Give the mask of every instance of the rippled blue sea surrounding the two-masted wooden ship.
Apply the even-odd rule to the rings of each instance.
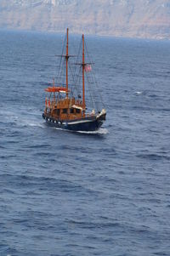
[[[169,256],[170,42],[86,37],[107,111],[88,134],[42,119],[64,37],[0,31],[0,255]]]

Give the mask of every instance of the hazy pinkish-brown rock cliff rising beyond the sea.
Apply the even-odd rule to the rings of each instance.
[[[170,39],[168,0],[1,0],[0,28]]]

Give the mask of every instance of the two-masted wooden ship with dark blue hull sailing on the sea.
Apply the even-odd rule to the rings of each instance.
[[[82,73],[82,94],[75,96],[75,94],[73,94],[73,86],[69,87],[69,61],[70,57],[73,57],[73,55],[69,54],[68,34],[69,30],[67,28],[65,37],[66,47],[63,49],[62,54],[59,55],[61,60],[64,59],[65,63],[65,82],[60,82],[60,80],[59,82],[54,81],[53,86],[45,88],[45,92],[48,93],[48,98],[46,97],[45,100],[45,109],[42,113],[42,117],[48,124],[55,128],[63,128],[72,131],[96,131],[101,127],[103,122],[105,122],[106,111],[105,108],[101,110],[95,110],[93,108],[89,111],[85,100],[85,75],[91,71],[92,63],[85,61],[86,45],[84,35],[82,35],[81,61],[75,63],[75,65],[79,65]],[[60,61],[60,63],[61,62],[62,61]],[[75,77],[72,83],[76,85]]]

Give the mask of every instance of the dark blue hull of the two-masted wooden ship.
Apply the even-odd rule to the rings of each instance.
[[[42,114],[45,121],[55,127],[63,128],[71,131],[96,131],[98,130],[105,120],[105,115],[100,115],[99,117],[84,117],[75,120],[56,120],[54,118]]]

